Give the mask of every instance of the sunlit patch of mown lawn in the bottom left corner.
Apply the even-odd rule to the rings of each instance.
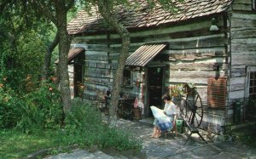
[[[51,135],[45,133],[38,135],[0,130],[0,156],[8,159],[22,158],[37,150],[66,145],[67,143],[60,142],[62,139],[58,135],[61,134],[54,131]]]

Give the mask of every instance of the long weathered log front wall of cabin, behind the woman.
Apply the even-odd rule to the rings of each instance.
[[[207,107],[207,79],[226,77],[229,56],[229,40],[225,34],[224,16],[218,18],[219,31],[209,31],[212,17],[205,20],[195,20],[182,26],[161,27],[154,30],[131,31],[132,54],[143,43],[169,43],[169,48],[148,65],[166,65],[165,85],[194,82],[204,104],[203,127],[212,125],[213,131],[220,132],[224,123],[224,110]],[[111,88],[114,71],[120,50],[120,40],[117,34],[104,34],[97,36],[74,37],[72,47],[85,48],[84,65],[84,98],[102,100],[108,88]],[[213,65],[218,63],[220,71],[213,71]],[[142,79],[143,69],[132,71],[132,87],[123,88],[122,91],[130,96],[147,93]],[[139,87],[135,86],[139,79]],[[147,96],[146,96],[147,97]],[[145,100],[144,100],[145,101]],[[147,103],[145,103],[147,105]],[[148,109],[148,108],[146,108]]]

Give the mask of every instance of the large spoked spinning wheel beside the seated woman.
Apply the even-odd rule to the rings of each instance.
[[[195,128],[201,126],[203,107],[201,97],[195,88],[187,89],[187,97],[183,99],[182,105],[180,105],[180,114],[186,122]]]

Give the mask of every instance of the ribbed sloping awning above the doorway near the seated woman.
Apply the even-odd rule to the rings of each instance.
[[[125,65],[143,67],[167,46],[168,43],[145,43],[127,58]]]

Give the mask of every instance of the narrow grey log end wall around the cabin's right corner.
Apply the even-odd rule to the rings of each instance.
[[[256,14],[253,1],[235,0],[230,14],[230,87],[228,120],[233,120],[234,102],[245,103],[248,92],[247,66],[256,65]],[[245,105],[241,105],[241,122]]]

